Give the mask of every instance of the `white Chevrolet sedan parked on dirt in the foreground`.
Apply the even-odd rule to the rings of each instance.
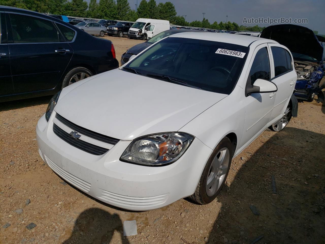
[[[180,33],[132,58],[62,89],[36,128],[48,166],[113,206],[209,203],[231,159],[296,115],[292,55],[275,41]]]

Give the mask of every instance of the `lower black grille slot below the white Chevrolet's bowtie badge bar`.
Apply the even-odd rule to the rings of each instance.
[[[73,139],[69,133],[59,128],[59,126],[57,126],[56,124],[53,124],[53,132],[63,141],[87,153],[94,155],[102,155],[108,151],[107,148],[99,147],[79,139]]]

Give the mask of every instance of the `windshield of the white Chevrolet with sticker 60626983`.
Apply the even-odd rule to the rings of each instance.
[[[218,53],[216,53],[218,52]],[[126,72],[147,75],[207,91],[230,94],[246,60],[248,47],[182,37],[168,37],[125,65]]]

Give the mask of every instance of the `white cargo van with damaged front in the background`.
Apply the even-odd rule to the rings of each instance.
[[[131,26],[128,36],[130,38],[141,38],[143,40],[147,40],[152,36],[169,29],[170,25],[168,20],[140,18],[137,19],[136,22]]]

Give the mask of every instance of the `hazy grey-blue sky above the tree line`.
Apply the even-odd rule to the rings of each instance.
[[[89,2],[89,0],[87,0]],[[98,0],[99,1],[99,0]],[[130,7],[135,9],[136,1],[129,0]],[[149,0],[148,0],[149,1]],[[325,0],[167,0],[175,5],[177,15],[186,15],[186,21],[202,20],[204,17],[213,23],[217,21],[236,22],[242,24],[248,18],[292,18],[307,19],[307,24],[299,24],[325,34]],[[167,1],[156,0],[156,3]],[[228,18],[226,17],[228,15]],[[245,25],[245,24],[243,24]],[[256,24],[247,24],[253,26]],[[269,26],[269,24],[257,24]]]

